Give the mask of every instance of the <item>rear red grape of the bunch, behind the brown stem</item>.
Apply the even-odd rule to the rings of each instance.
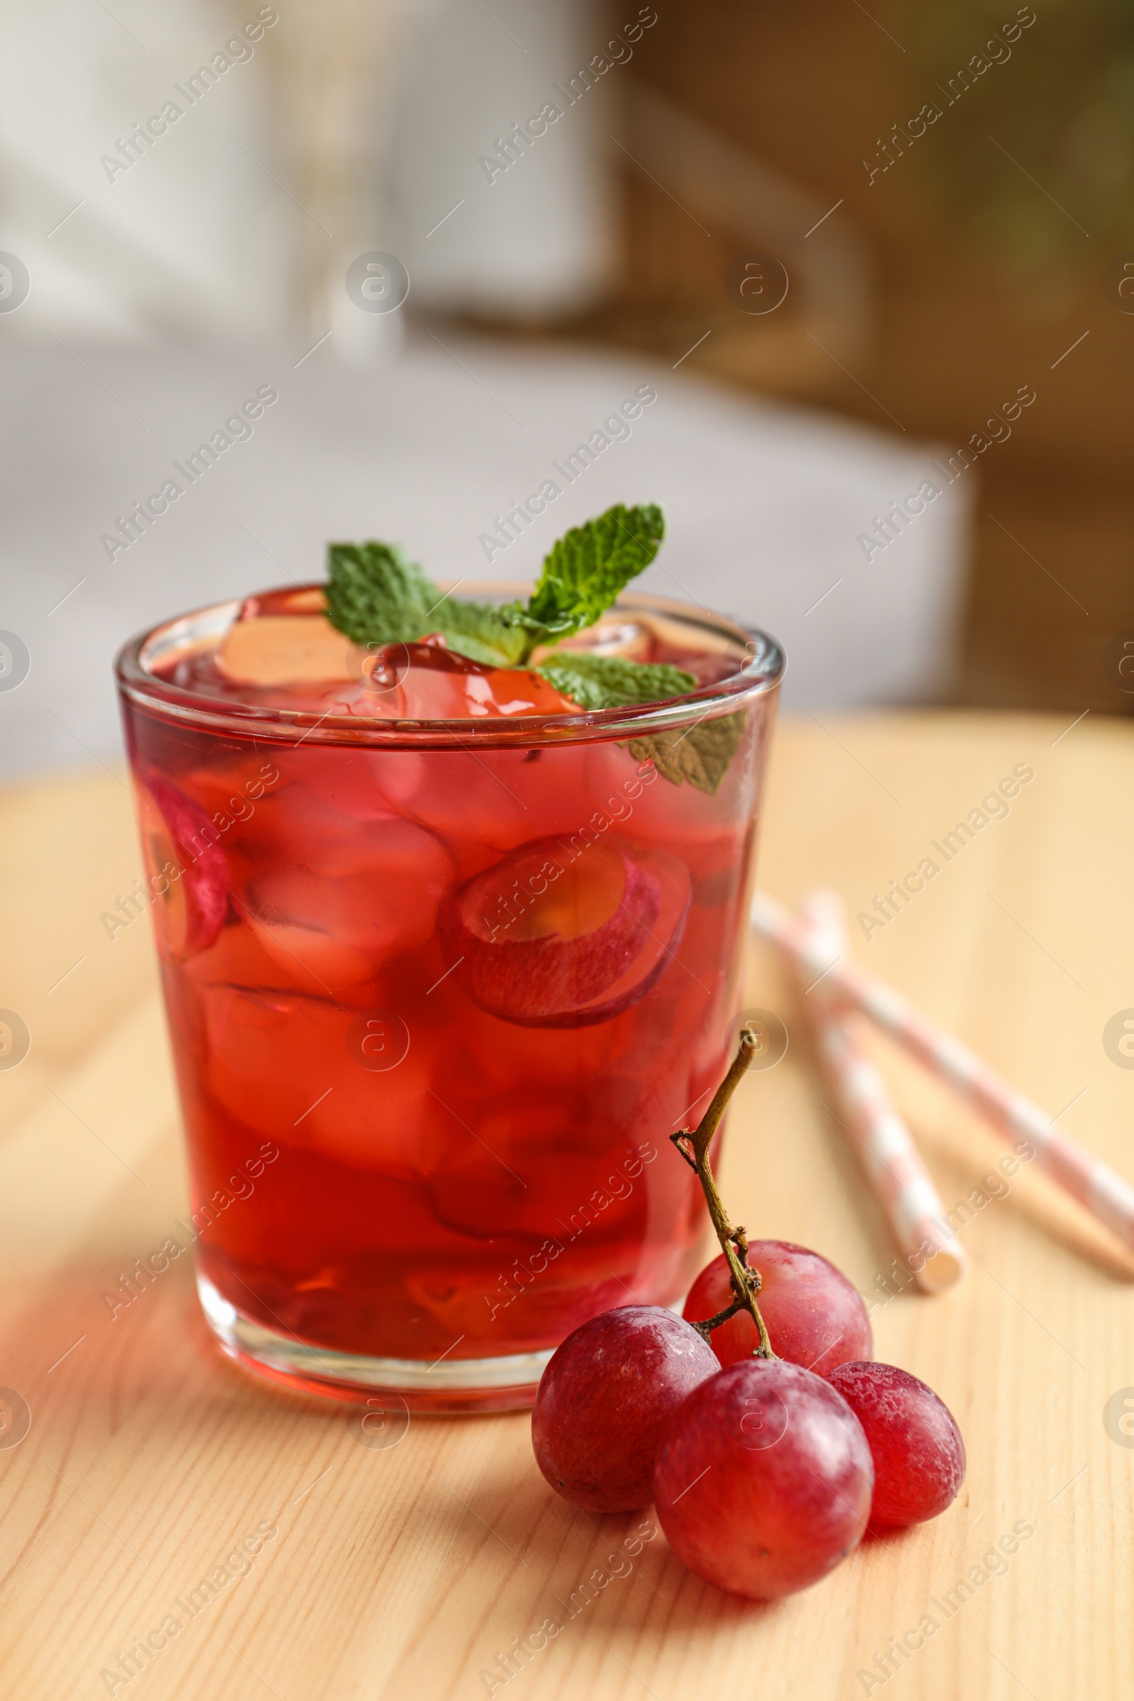
[[[753,1240],[748,1264],[760,1271],[757,1305],[772,1351],[780,1359],[828,1376],[847,1359],[874,1357],[870,1318],[860,1294],[818,1252],[796,1247],[791,1240]],[[700,1323],[723,1311],[731,1300],[728,1264],[719,1257],[702,1269],[689,1289],[682,1315]],[[758,1345],[757,1325],[746,1311],[712,1330],[712,1351],[721,1364],[748,1359]]]

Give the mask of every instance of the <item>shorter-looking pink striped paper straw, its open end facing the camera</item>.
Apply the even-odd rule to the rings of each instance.
[[[828,961],[845,954],[843,903],[836,893],[809,893],[802,902],[802,919],[814,954]],[[828,981],[813,988],[804,1007],[838,1104],[838,1119],[862,1148],[867,1179],[906,1267],[923,1293],[952,1288],[967,1269],[967,1259],[954,1243],[945,1206],[910,1129],[855,1039],[850,1012],[831,995]]]

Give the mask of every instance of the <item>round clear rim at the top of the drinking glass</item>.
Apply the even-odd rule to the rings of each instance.
[[[275,585],[272,592],[321,590],[325,580],[304,585]],[[515,580],[440,580],[442,590],[468,587],[469,595],[515,597],[530,585]],[[712,614],[699,604],[656,597],[649,592],[622,592],[605,617],[622,612],[663,614],[682,621],[714,638],[728,640],[743,648],[745,660],[728,679],[702,686],[683,697],[666,703],[636,703],[614,709],[581,709],[575,714],[515,714],[461,720],[393,720],[389,716],[318,714],[315,709],[277,709],[258,704],[226,703],[204,692],[187,691],[148,672],[146,651],[156,645],[170,650],[189,636],[219,636],[248,597],[226,597],[204,604],[187,614],[175,614],[156,626],[138,633],[122,645],[114,660],[117,687],[128,703],[150,709],[163,720],[184,726],[252,738],[257,743],[321,743],[364,745],[374,748],[469,748],[478,747],[530,747],[553,743],[585,743],[607,738],[634,738],[656,731],[680,730],[695,721],[716,718],[748,708],[760,696],[774,691],[785,670],[780,643],[755,626],[741,626],[723,614]],[[158,653],[162,653],[158,650]]]

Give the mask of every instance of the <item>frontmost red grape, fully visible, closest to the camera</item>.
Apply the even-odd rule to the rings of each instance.
[[[825,1577],[867,1527],[874,1468],[828,1381],[745,1359],[689,1395],[658,1454],[655,1504],[692,1572],[775,1601]]]

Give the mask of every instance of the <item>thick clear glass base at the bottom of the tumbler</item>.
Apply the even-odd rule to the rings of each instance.
[[[536,1403],[536,1390],[553,1347],[496,1359],[374,1359],[282,1335],[236,1310],[197,1272],[201,1308],[224,1352],[245,1369],[298,1393],[347,1405],[388,1395],[405,1412],[519,1412]]]

